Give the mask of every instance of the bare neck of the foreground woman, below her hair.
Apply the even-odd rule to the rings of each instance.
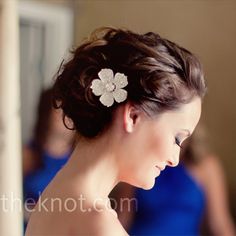
[[[67,168],[87,198],[108,200],[109,193],[119,182],[115,150],[112,138],[108,136],[78,142]]]

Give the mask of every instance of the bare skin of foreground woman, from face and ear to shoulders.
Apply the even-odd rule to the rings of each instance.
[[[191,134],[200,114],[198,97],[179,110],[153,119],[130,103],[119,106],[109,130],[93,140],[81,139],[68,163],[42,194],[42,200],[57,197],[62,202],[82,194],[83,209],[77,204],[73,212],[57,207],[47,212],[38,203],[26,236],[127,235],[110,208],[109,193],[121,181],[152,188],[160,169],[178,164],[180,147],[175,137],[178,135],[181,142],[186,139],[189,134],[183,129]],[[46,205],[50,208],[50,202]]]

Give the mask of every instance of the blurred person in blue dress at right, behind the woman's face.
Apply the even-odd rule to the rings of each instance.
[[[122,184],[111,198],[130,235],[236,235],[229,213],[224,174],[206,148],[203,127],[183,144],[181,162],[167,167],[145,191]],[[131,199],[122,205],[120,199]]]

